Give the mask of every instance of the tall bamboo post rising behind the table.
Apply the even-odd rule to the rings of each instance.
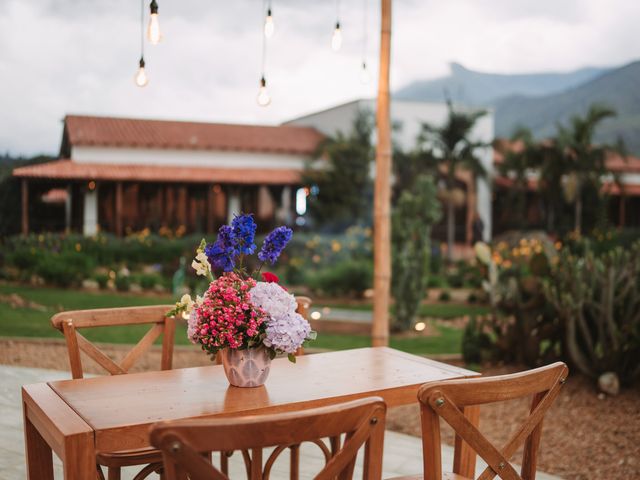
[[[380,70],[376,128],[376,179],[373,199],[373,324],[374,347],[389,344],[391,290],[391,115],[389,62],[391,57],[391,0],[381,0]]]

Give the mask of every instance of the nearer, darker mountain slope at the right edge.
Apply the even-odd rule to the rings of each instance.
[[[531,129],[537,138],[553,135],[556,124],[584,114],[592,103],[615,109],[596,131],[599,142],[622,138],[630,152],[640,154],[640,61],[611,70],[565,92],[542,97],[513,95],[495,101],[495,134],[508,137],[516,126]]]

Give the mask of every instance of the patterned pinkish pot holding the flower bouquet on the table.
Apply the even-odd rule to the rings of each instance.
[[[259,387],[269,376],[271,358],[264,347],[246,350],[222,350],[224,373],[236,387]]]

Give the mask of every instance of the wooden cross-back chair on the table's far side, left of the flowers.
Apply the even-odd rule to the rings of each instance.
[[[173,360],[173,341],[175,319],[165,314],[172,305],[151,307],[104,308],[97,310],[77,310],[61,312],[51,318],[52,325],[60,330],[67,342],[71,375],[83,378],[84,371],[80,352],[87,354],[98,365],[111,375],[126,374],[136,360],[142,356],[162,335],[161,370],[170,370]],[[92,327],[109,327],[124,325],[151,326],[142,339],[125,355],[120,362],[115,362],[96,345],[87,340],[78,330]],[[146,465],[135,477],[135,480],[146,478],[153,472],[161,473],[162,455],[155,449],[141,449],[121,452],[99,452],[97,455],[98,478],[104,479],[101,465],[108,469],[108,480],[120,480],[121,468],[135,465]]]

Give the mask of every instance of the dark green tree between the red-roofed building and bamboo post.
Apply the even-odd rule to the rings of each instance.
[[[358,221],[371,223],[373,125],[370,112],[359,112],[351,132],[325,139],[307,166],[303,181],[317,187],[309,201],[316,225],[343,230]]]

